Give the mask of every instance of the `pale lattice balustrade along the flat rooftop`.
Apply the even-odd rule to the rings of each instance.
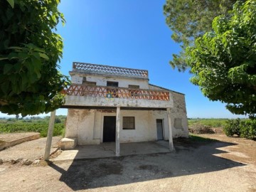
[[[124,77],[133,78],[149,78],[149,72],[147,70],[139,70],[132,68],[120,68],[109,65],[97,65],[91,63],[79,63],[73,62],[73,70],[70,72],[81,72],[81,73],[93,73],[102,75],[120,75]]]

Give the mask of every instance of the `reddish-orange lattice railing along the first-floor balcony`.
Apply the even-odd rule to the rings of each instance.
[[[159,90],[130,89],[124,87],[105,87],[88,85],[70,85],[63,90],[65,95],[130,98],[136,100],[170,100],[169,92]]]

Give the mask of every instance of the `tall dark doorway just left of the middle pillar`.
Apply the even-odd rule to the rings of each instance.
[[[103,121],[103,142],[115,142],[116,117],[105,116]]]

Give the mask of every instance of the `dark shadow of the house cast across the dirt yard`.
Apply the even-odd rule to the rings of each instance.
[[[203,174],[245,165],[214,155],[226,153],[226,151],[217,148],[235,145],[232,143],[176,142],[174,145],[176,147],[175,153],[81,159],[73,161],[68,168],[57,161],[50,163],[49,166],[62,174],[60,181],[63,181],[74,191],[78,191],[159,178]]]

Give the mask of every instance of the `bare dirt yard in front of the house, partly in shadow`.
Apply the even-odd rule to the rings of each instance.
[[[256,142],[201,134],[176,152],[0,165],[0,191],[256,191]]]

